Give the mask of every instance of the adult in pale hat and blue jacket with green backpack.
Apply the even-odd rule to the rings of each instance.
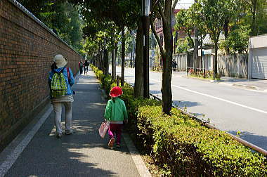
[[[71,86],[74,84],[74,77],[72,70],[66,67],[67,59],[63,55],[56,55],[53,58],[53,65],[51,65],[51,72],[49,72],[48,84],[51,93],[51,104],[55,114],[56,137],[62,136],[61,129],[61,114],[62,106],[65,106],[65,134],[72,134],[72,102],[73,91]]]

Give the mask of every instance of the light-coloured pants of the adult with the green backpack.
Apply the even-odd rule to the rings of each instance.
[[[61,129],[61,114],[62,106],[65,106],[65,131],[71,131],[72,123],[72,102],[56,102],[53,104],[53,110],[55,112],[55,124],[57,133],[62,133]]]

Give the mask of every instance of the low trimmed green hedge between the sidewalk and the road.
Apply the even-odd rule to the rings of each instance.
[[[162,114],[158,101],[133,98],[130,86],[122,90],[129,133],[152,152],[166,176],[267,176],[266,157],[227,133],[201,126],[176,109],[171,116]]]

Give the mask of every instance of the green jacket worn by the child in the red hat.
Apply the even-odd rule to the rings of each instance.
[[[113,100],[108,100],[108,104],[105,107],[105,119],[109,121],[124,121],[128,119],[128,114],[126,111],[125,103],[120,98],[113,98]]]

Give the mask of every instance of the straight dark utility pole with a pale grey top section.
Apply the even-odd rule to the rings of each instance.
[[[143,97],[149,98],[149,13],[150,13],[150,0],[142,1],[143,11]]]

